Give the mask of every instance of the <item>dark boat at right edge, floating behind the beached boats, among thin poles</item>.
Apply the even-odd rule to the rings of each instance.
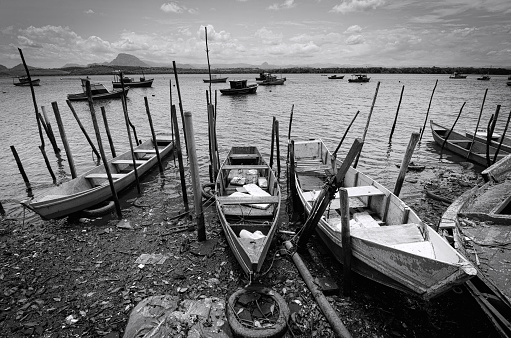
[[[449,134],[449,129],[433,122],[433,120],[430,120],[430,125],[433,139],[437,144],[442,146],[446,136]],[[465,134],[461,134],[453,130],[445,142],[444,149],[458,154],[469,161],[488,167],[486,159],[486,142],[481,142],[477,139],[472,142],[471,137],[467,137]],[[497,148],[490,145],[488,150],[491,163],[493,163]],[[496,160],[498,161],[508,154],[509,151],[506,151],[501,147]]]

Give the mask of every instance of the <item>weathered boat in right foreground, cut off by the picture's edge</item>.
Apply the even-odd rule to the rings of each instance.
[[[511,337],[511,155],[485,169],[486,182],[467,190],[445,211],[439,229],[477,268],[466,283],[501,337]]]

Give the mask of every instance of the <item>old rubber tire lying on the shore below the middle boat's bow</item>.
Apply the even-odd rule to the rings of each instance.
[[[279,306],[279,317],[277,319],[277,323],[268,329],[250,329],[248,327],[243,326],[238,319],[236,318],[236,314],[234,313],[234,305],[238,298],[247,292],[258,292],[260,294],[269,296],[275,300],[275,302]],[[284,298],[267,287],[254,287],[249,286],[244,289],[240,289],[233,293],[228,300],[229,304],[226,306],[226,317],[229,325],[231,326],[232,333],[234,337],[243,337],[243,338],[274,338],[274,337],[282,337],[287,330],[287,320],[289,318],[289,307],[287,306]]]

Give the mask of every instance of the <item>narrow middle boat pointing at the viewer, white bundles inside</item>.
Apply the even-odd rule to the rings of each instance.
[[[216,209],[227,242],[248,275],[260,272],[277,231],[280,186],[256,147],[232,147],[220,167]]]

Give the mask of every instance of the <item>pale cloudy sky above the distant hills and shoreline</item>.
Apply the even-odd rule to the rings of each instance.
[[[0,0],[0,65],[511,67],[511,0]]]

